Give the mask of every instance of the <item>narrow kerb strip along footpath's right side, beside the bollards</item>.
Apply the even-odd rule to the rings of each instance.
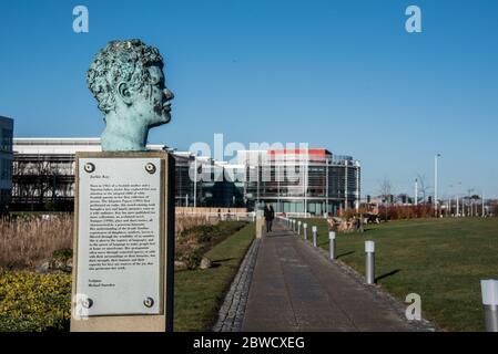
[[[365,291],[369,291],[374,294],[377,299],[383,299],[386,301],[387,304],[393,309],[394,313],[403,321],[408,323],[414,331],[416,332],[444,332],[441,329],[439,329],[435,323],[421,319],[420,321],[408,321],[405,316],[406,308],[408,306],[407,303],[404,303],[399,301],[398,299],[394,298],[390,293],[388,293],[386,290],[384,290],[379,284],[366,284],[365,277],[359,274],[356,270],[354,270],[352,267],[347,266],[341,260],[331,260],[329,254],[326,250],[322,249],[321,247],[313,247],[313,244],[304,239],[299,238],[301,242],[304,242],[306,247],[317,252],[321,257],[324,257],[328,262],[337,264],[346,274],[350,275],[356,282],[363,285]]]

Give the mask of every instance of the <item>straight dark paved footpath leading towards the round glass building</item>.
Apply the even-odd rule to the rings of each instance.
[[[408,322],[405,306],[276,225],[260,244],[242,331],[434,331]]]

